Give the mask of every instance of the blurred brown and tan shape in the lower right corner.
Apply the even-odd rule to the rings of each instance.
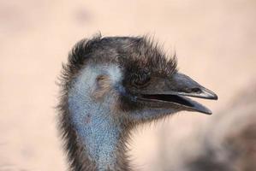
[[[180,148],[174,149],[177,156],[172,156],[177,162],[164,170],[256,170],[256,84],[248,85],[229,107],[212,117],[193,138],[180,142]]]

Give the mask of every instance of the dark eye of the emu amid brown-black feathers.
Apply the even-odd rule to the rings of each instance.
[[[139,74],[134,74],[132,76],[132,85],[136,87],[143,87],[148,85],[150,81],[150,73],[149,72],[140,72]]]

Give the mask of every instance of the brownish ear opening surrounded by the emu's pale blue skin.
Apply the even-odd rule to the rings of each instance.
[[[110,77],[106,74],[100,74],[95,80],[95,85],[92,90],[92,97],[100,99],[104,97],[106,92],[110,91]]]

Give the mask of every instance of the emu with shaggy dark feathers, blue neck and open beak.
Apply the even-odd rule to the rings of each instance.
[[[81,39],[60,80],[58,126],[72,171],[132,170],[134,127],[184,110],[211,115],[190,97],[217,99],[149,36]]]

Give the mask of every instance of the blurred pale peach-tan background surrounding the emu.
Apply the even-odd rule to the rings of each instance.
[[[255,80],[255,21],[254,0],[1,0],[0,170],[66,168],[55,82],[80,38],[99,31],[154,36],[164,50],[176,50],[183,73],[217,93],[217,102],[201,101],[217,115]],[[131,141],[133,165],[166,169],[159,146],[170,151],[166,161],[176,162],[172,146],[213,117],[183,112],[141,127]]]

